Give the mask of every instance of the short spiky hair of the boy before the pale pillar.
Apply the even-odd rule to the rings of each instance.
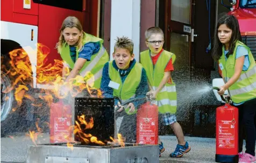
[[[128,37],[122,36],[122,38],[117,37],[117,42],[115,43],[114,53],[117,48],[127,49],[130,54],[133,54],[133,42]]]

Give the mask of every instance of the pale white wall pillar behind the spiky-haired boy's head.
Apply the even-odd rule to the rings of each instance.
[[[110,60],[117,37],[127,36],[134,43],[133,53],[139,61],[140,0],[111,1]]]

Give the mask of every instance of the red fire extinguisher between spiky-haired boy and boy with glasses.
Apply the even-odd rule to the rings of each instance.
[[[158,106],[146,102],[137,111],[137,143],[158,144]]]

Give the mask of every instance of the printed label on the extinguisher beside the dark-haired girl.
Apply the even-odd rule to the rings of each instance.
[[[234,124],[231,121],[218,121],[219,148],[234,148]]]

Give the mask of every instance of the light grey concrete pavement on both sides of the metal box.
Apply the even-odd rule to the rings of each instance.
[[[169,158],[169,154],[175,150],[177,140],[175,136],[160,136],[166,151],[162,153],[161,163],[193,163],[215,162],[215,139],[185,137],[191,146],[191,151],[182,158]],[[49,143],[48,135],[39,137],[40,143]],[[27,145],[32,144],[29,137],[24,135],[13,138],[1,138],[1,162],[26,162]]]

